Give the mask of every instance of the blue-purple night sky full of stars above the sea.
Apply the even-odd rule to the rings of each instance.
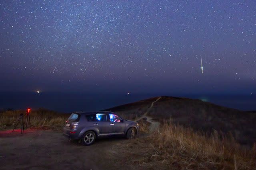
[[[1,0],[0,91],[256,94],[255,38],[255,0]]]

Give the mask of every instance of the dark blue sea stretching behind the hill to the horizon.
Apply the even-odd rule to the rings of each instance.
[[[0,92],[0,109],[45,108],[62,113],[98,111],[156,96],[174,96],[200,99],[220,106],[243,111],[256,111],[255,95],[207,94],[140,94],[140,93],[54,93],[54,92]]]

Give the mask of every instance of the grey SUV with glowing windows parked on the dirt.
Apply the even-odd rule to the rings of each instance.
[[[139,125],[122,119],[108,111],[73,112],[63,128],[69,139],[81,139],[83,145],[91,145],[97,137],[123,135],[127,139],[138,135]]]

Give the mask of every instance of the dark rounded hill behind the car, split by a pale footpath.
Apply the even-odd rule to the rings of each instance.
[[[157,98],[106,110],[140,117]],[[158,121],[171,118],[174,124],[192,127],[209,135],[214,131],[217,131],[220,137],[232,133],[233,137],[242,144],[252,145],[256,142],[256,113],[253,112],[230,109],[201,100],[162,96],[154,103],[148,115]]]

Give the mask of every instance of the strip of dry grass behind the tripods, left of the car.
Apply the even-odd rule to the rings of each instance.
[[[26,111],[15,110],[0,113],[0,130],[12,129],[14,124],[18,121],[20,113],[25,114]],[[70,114],[60,114],[46,109],[31,111],[31,126],[35,128],[46,127],[49,129],[60,129],[64,125],[69,115]],[[23,122],[26,123],[26,117],[23,118]]]

